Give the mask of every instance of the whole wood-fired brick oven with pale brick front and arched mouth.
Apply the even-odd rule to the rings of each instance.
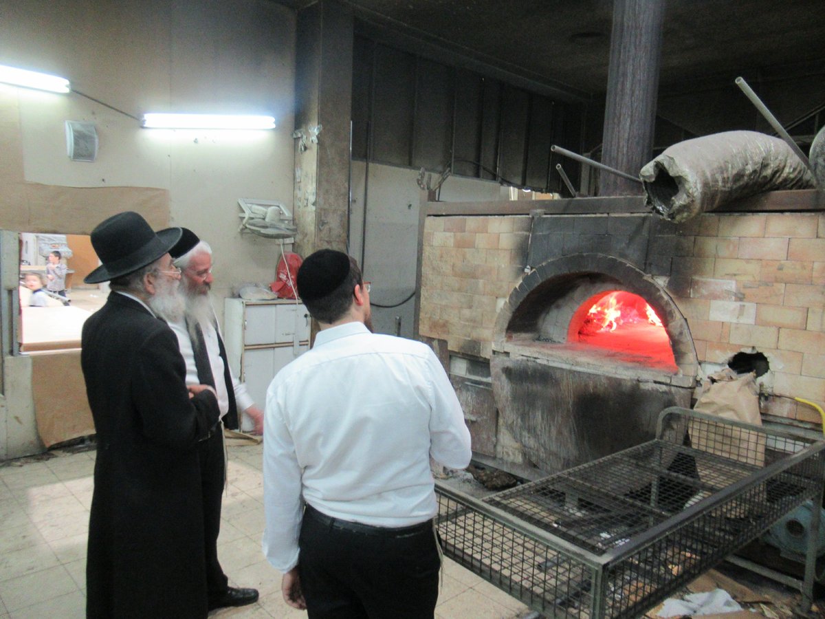
[[[681,224],[633,198],[431,202],[418,333],[451,370],[475,368],[450,373],[474,448],[547,472],[648,440],[662,409],[690,408],[697,380],[742,355],[766,360],[762,413],[803,418],[794,396],[825,399],[823,210],[822,191]],[[619,302],[661,326],[594,329],[594,306]]]

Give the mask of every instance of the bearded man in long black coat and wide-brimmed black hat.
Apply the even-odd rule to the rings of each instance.
[[[106,305],[83,325],[81,363],[97,431],[87,553],[87,617],[205,617],[207,593],[196,446],[218,421],[214,390],[188,390],[177,338],[163,318],[180,272],[136,213],[92,232],[111,281]]]

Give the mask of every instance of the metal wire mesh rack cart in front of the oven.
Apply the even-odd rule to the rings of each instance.
[[[485,499],[437,484],[436,522],[445,555],[535,611],[639,617],[800,504],[821,505],[823,450],[794,432],[672,407],[653,441]]]

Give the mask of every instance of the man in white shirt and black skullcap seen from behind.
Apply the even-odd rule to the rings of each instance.
[[[301,265],[314,347],[266,392],[263,550],[285,601],[320,617],[433,617],[441,565],[430,458],[469,464],[455,391],[427,345],[371,333],[345,253]]]

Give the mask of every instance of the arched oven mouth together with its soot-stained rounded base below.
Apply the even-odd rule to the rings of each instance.
[[[551,219],[536,221],[534,237],[557,229]],[[690,406],[697,370],[686,321],[662,286],[627,254],[572,249],[533,254],[538,267],[499,314],[491,360],[507,427],[549,472],[653,437],[658,411]]]

